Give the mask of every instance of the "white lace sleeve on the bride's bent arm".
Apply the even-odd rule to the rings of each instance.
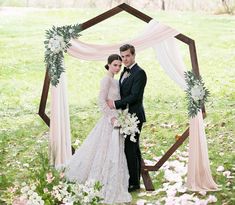
[[[115,111],[111,110],[107,104],[108,93],[111,87],[111,79],[109,77],[105,77],[101,80],[100,83],[100,92],[99,92],[99,107],[100,111],[108,118],[109,122],[113,117],[116,117]]]

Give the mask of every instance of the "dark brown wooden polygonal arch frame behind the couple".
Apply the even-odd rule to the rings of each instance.
[[[81,24],[81,30],[85,30],[87,28],[90,28],[94,26],[97,23],[100,23],[118,13],[121,11],[126,11],[127,13],[139,18],[140,20],[148,23],[149,21],[152,20],[150,16],[147,16],[146,14],[138,11],[137,9],[123,3],[120,4],[119,6],[116,6],[101,15],[98,15],[84,23]],[[199,76],[199,67],[198,67],[198,61],[197,61],[197,54],[196,54],[196,47],[194,40],[191,38],[183,35],[183,34],[178,34],[175,36],[176,39],[182,41],[183,43],[187,44],[189,46],[189,53],[190,53],[190,59],[191,59],[191,65],[192,65],[192,70],[196,74],[196,76]],[[46,102],[47,102],[47,97],[48,97],[48,91],[50,87],[50,79],[48,75],[48,71],[46,70],[45,74],[45,79],[44,79],[44,84],[43,84],[43,90],[42,90],[42,95],[41,95],[41,101],[39,105],[39,116],[43,119],[43,121],[50,126],[50,119],[45,113],[46,109]],[[202,109],[203,116],[205,117],[205,107]],[[144,160],[142,159],[142,167],[141,167],[141,174],[143,178],[143,182],[145,185],[145,188],[147,191],[153,191],[154,187],[152,184],[152,180],[149,176],[149,171],[157,171],[168,159],[169,157],[178,149],[178,147],[187,139],[189,136],[189,128],[187,128],[184,133],[179,136],[177,141],[170,147],[170,149],[162,156],[162,158],[153,166],[148,166],[145,165]]]

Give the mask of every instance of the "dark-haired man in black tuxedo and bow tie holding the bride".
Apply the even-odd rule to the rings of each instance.
[[[119,79],[121,100],[108,100],[111,109],[126,109],[129,107],[129,113],[135,113],[140,121],[138,128],[141,131],[143,122],[146,122],[143,107],[143,94],[147,82],[145,71],[135,62],[135,47],[125,44],[120,47],[120,55],[125,65]],[[141,172],[141,152],[139,146],[139,136],[136,133],[136,142],[130,140],[128,136],[125,140],[125,154],[129,169],[129,191],[140,188]]]

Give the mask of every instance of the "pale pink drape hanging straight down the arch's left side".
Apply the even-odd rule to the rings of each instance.
[[[65,73],[62,73],[57,87],[51,88],[50,118],[50,163],[56,168],[62,168],[72,156]]]

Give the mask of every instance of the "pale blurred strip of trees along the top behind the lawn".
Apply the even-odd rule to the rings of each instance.
[[[235,0],[0,0],[0,6],[42,8],[113,8],[126,3],[137,9],[207,11],[234,14]]]

